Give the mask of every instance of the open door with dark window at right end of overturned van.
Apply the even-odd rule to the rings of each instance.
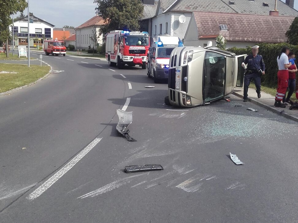
[[[247,54],[235,56],[235,62],[233,64],[233,87],[243,88],[245,70],[242,67],[242,62],[245,60]]]

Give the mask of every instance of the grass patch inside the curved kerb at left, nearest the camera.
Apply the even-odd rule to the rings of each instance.
[[[22,64],[0,64],[0,72],[17,72],[17,73],[0,73],[0,93],[12,90],[30,84],[49,71],[49,66],[27,65]]]

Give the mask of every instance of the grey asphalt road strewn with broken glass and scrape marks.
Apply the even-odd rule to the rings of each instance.
[[[0,222],[298,222],[296,122],[233,95],[165,106],[139,67],[43,60],[61,72],[0,97]],[[126,102],[137,142],[116,131]]]

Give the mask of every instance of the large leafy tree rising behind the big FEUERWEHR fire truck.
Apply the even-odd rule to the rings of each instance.
[[[97,14],[105,21],[99,35],[111,30],[139,30],[144,10],[140,0],[94,0],[94,3]]]

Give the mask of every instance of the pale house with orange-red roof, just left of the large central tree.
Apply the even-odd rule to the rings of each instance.
[[[86,21],[82,25],[75,28],[76,30],[76,48],[88,49],[89,46],[93,48],[94,42],[92,41],[92,35],[97,36],[97,44],[103,43],[103,35],[99,34],[99,29],[105,24],[104,20],[100,16],[94,16],[90,20]],[[97,47],[97,46],[95,46]]]

